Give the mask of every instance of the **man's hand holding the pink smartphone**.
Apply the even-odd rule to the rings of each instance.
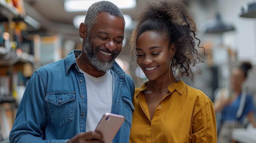
[[[66,143],[103,143],[103,136],[98,132],[80,133]]]

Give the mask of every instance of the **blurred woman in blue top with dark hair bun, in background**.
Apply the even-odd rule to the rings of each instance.
[[[242,85],[247,79],[251,63],[243,62],[231,72],[231,90],[222,89],[216,95],[214,102],[215,112],[221,112],[221,129],[218,142],[231,142],[232,130],[241,128],[242,121],[248,116],[249,122],[256,128],[253,119],[253,99],[251,94],[242,90]]]

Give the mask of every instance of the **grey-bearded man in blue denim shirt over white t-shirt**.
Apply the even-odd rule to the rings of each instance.
[[[125,116],[113,143],[129,142],[134,83],[114,59],[125,21],[111,2],[94,3],[80,24],[83,50],[35,71],[19,105],[11,143],[101,142],[94,132],[106,112]]]

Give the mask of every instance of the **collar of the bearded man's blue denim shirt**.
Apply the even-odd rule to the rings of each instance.
[[[68,74],[68,71],[73,64],[77,64],[76,57],[78,57],[81,54],[81,52],[82,52],[82,50],[72,50],[67,55],[67,57],[65,58],[66,74]],[[121,77],[125,77],[125,72],[123,71],[123,69],[119,66],[119,64],[116,61],[114,61],[111,71],[118,74]]]

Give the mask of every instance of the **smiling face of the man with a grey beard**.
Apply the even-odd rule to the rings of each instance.
[[[88,60],[100,71],[111,69],[120,54],[124,39],[124,20],[100,12],[83,47]]]

